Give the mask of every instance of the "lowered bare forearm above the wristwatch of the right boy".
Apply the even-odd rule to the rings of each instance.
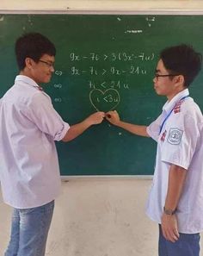
[[[181,197],[187,170],[178,165],[171,165],[169,170],[169,185],[165,200],[165,209],[175,210]]]

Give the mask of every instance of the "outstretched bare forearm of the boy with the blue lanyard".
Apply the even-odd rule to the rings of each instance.
[[[136,124],[120,121],[117,124],[117,126],[120,127],[120,128],[124,128],[125,130],[127,130],[128,132],[130,132],[132,134],[136,134],[136,135],[139,135],[139,136],[150,137],[150,135],[147,134],[147,132],[146,132],[147,127],[144,126],[144,125],[136,125]]]

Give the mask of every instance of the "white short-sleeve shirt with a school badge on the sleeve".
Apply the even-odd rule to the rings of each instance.
[[[203,230],[203,117],[188,94],[186,89],[165,103],[162,115],[147,128],[157,141],[157,159],[146,213],[161,223],[169,168],[171,164],[179,165],[188,173],[176,211],[178,229],[194,234]]]

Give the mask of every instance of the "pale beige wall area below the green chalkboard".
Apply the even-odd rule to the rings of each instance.
[[[145,215],[150,184],[114,178],[62,182],[46,255],[157,256],[157,224]],[[9,240],[10,216],[0,195],[0,255]]]

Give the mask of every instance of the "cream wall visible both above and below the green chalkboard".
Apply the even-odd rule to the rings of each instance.
[[[12,10],[203,10],[203,1],[1,0]],[[151,180],[76,179],[63,182],[46,255],[157,256],[157,224],[145,216]],[[0,197],[0,255],[9,240],[11,209]],[[203,243],[203,242],[202,242]],[[202,244],[203,245],[203,244]]]

